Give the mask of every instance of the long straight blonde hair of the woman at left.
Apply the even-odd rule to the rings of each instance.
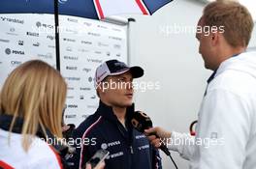
[[[21,134],[25,151],[31,144],[31,135],[41,127],[56,137],[62,137],[62,111],[67,85],[59,71],[40,60],[28,61],[13,70],[0,94],[0,112],[23,119]]]

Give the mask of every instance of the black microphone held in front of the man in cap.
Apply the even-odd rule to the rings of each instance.
[[[153,127],[151,119],[141,111],[134,112],[131,123],[133,127],[142,133],[144,133],[144,129]],[[151,133],[151,135],[155,135],[157,138],[160,138],[156,133]],[[166,155],[171,155],[168,148],[164,144],[161,144],[159,149],[161,149]]]

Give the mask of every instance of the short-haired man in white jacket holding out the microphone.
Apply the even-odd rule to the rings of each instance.
[[[200,32],[206,26],[209,34]],[[196,38],[206,69],[214,72],[208,79],[196,135],[146,129],[155,147],[167,144],[190,161],[191,169],[256,168],[256,52],[246,52],[252,29],[251,14],[240,3],[208,4]]]

